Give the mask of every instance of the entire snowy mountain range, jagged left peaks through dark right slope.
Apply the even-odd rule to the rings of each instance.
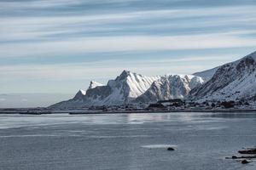
[[[54,108],[77,108],[90,105],[151,103],[163,99],[226,100],[256,98],[256,52],[235,62],[193,75],[146,77],[123,71],[107,85],[90,82],[73,99]]]

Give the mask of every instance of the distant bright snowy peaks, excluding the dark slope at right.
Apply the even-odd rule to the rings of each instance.
[[[131,71],[123,71],[114,80],[109,80],[107,85],[92,81],[86,91],[79,90],[73,99],[51,107],[73,108],[86,105],[154,102],[159,99],[183,99],[192,88],[203,82],[201,77],[192,75],[145,77]]]

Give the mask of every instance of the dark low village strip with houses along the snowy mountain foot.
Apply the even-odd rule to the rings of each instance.
[[[197,103],[184,99],[160,100],[148,105],[127,104],[127,105],[101,105],[84,107],[88,111],[103,112],[172,112],[172,111],[242,111],[256,109],[255,105],[247,101],[204,101]]]

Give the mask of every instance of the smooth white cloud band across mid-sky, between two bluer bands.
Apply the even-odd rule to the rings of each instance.
[[[240,48],[256,46],[256,39],[225,34],[172,37],[90,37],[55,42],[1,44],[4,57],[42,54],[86,54],[121,51]]]

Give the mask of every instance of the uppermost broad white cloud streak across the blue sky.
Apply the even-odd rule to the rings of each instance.
[[[154,25],[147,24],[148,20],[158,21],[157,26],[172,26],[173,28],[193,28],[191,19],[195,20],[196,26],[228,26],[237,23],[254,25],[256,19],[256,6],[241,7],[218,7],[218,8],[179,8],[179,9],[159,9],[138,11],[129,13],[113,14],[79,14],[74,16],[42,16],[42,17],[2,17],[0,19],[0,37],[2,41],[29,40],[52,37],[54,34],[63,36],[79,32],[111,32],[125,29],[123,24],[139,28],[137,22],[143,20],[145,28],[147,26],[155,28]],[[211,17],[212,20],[202,20],[200,17]],[[228,18],[225,18],[228,17]],[[187,22],[171,22],[171,20],[185,19]],[[168,24],[166,24],[168,23]],[[114,25],[115,24],[115,25]],[[104,30],[106,29],[106,30]],[[125,33],[125,32],[123,32]]]

